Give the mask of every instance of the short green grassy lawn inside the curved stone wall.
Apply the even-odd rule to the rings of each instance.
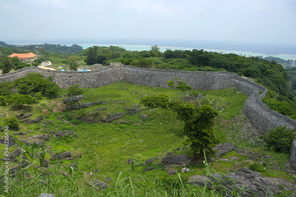
[[[126,88],[126,89],[124,89]],[[119,113],[126,112],[127,108],[131,108],[134,105],[138,105],[141,98],[147,95],[152,94],[166,94],[170,96],[171,99],[178,99],[180,96],[180,91],[176,89],[164,89],[164,88],[155,88],[155,87],[146,87],[140,85],[129,84],[127,82],[115,82],[111,85],[107,85],[99,88],[83,88],[84,94],[83,99],[79,102],[87,103],[92,101],[107,101],[106,104],[98,104],[88,108],[80,109],[77,111],[72,111],[75,117],[82,115],[87,115],[91,112],[96,112],[96,109],[99,107],[106,107],[102,111],[102,116],[108,116],[110,113]],[[203,96],[207,96],[210,100],[216,95],[214,90],[210,91],[199,91]],[[66,94],[66,90],[60,90],[59,95]],[[134,93],[134,94],[133,94]],[[34,131],[32,134],[28,135],[37,135],[37,134],[49,134],[49,131],[65,131],[71,130],[75,132],[78,138],[69,138],[65,140],[58,140],[55,137],[51,137],[49,141],[46,141],[46,147],[50,148],[50,151],[65,150],[70,151],[72,155],[80,155],[80,159],[72,160],[58,160],[58,162],[63,165],[68,165],[70,163],[79,163],[78,168],[86,171],[87,175],[85,178],[89,177],[89,172],[91,170],[98,169],[100,173],[94,172],[94,177],[104,180],[105,177],[114,177],[118,175],[117,173],[123,169],[129,169],[131,165],[127,165],[127,160],[129,158],[137,158],[139,166],[137,166],[136,174],[146,174],[149,180],[155,179],[156,173],[159,173],[158,177],[165,177],[166,171],[163,171],[163,164],[158,163],[161,159],[155,161],[154,164],[150,164],[155,171],[148,171],[144,173],[144,169],[147,167],[143,165],[145,160],[149,158],[157,158],[161,155],[166,155],[168,152],[174,152],[175,154],[186,154],[190,150],[180,150],[183,148],[181,143],[183,139],[183,126],[184,123],[176,119],[176,116],[170,110],[163,109],[144,109],[144,106],[140,106],[138,109],[143,109],[138,111],[134,115],[126,114],[124,117],[118,120],[129,121],[124,124],[118,123],[118,120],[115,120],[111,123],[81,123],[80,124],[71,124],[65,121],[62,117],[65,113],[68,112],[54,112],[53,108],[55,104],[53,101],[62,101],[64,98],[54,98],[44,96],[41,100],[36,101],[36,104],[31,104],[30,106],[24,106],[24,109],[28,107],[33,107],[31,113],[33,114],[31,119],[34,119],[38,115],[45,116],[41,123],[37,124],[20,124],[20,131],[28,132]],[[112,101],[111,101],[112,99]],[[184,98],[179,98],[184,99]],[[218,94],[218,99],[221,99],[221,104],[223,102],[228,102],[230,104],[225,104],[225,109],[221,113],[224,115],[218,116],[215,118],[214,132],[215,135],[220,139],[221,143],[231,141],[227,138],[226,132],[230,132],[230,129],[234,129],[236,123],[231,121],[241,114],[241,109],[244,105],[247,95],[239,92],[239,90],[234,88],[228,88],[221,90]],[[113,102],[117,101],[117,102]],[[120,104],[120,102],[124,102]],[[42,109],[37,109],[38,106],[41,106]],[[10,106],[0,106],[0,112],[9,116],[19,114],[20,109],[10,108]],[[146,114],[148,116],[147,120],[141,120],[140,116]],[[51,124],[46,124],[46,121],[52,120]],[[142,121],[142,122],[140,122]],[[220,123],[227,123],[227,125]],[[136,125],[136,123],[140,123]],[[3,117],[0,118],[0,124],[3,125]],[[228,129],[228,130],[227,130]],[[239,129],[239,128],[236,128]],[[226,131],[227,130],[227,131]],[[17,132],[20,132],[17,131]],[[13,135],[13,132],[10,134]],[[0,133],[0,137],[4,136],[4,132]],[[23,136],[25,137],[25,136]],[[18,136],[14,136],[17,141]],[[18,142],[18,141],[17,141]],[[236,144],[235,140],[231,141],[233,144]],[[240,146],[250,146],[247,141],[242,141],[239,144]],[[262,147],[251,147],[253,151],[260,152]],[[12,152],[13,148],[11,147],[9,152]],[[0,154],[4,156],[4,145],[0,144]],[[231,158],[236,156],[240,159],[237,162],[221,162],[213,161],[213,169],[219,172],[229,172],[237,171],[237,169],[250,166],[250,163],[244,162],[247,160],[246,156],[240,156],[237,152],[232,151],[225,155],[224,158]],[[49,160],[50,155],[46,153],[46,159]],[[220,157],[222,158],[222,156]],[[217,159],[220,159],[217,158]],[[286,161],[287,158],[282,160]],[[50,160],[49,160],[50,161]],[[33,162],[33,161],[31,161]],[[51,161],[51,164],[54,164],[54,161]],[[36,162],[33,165],[38,165],[39,161],[36,159]],[[204,165],[200,166],[188,166],[190,169],[193,169],[195,172],[190,172],[189,174],[184,174],[186,176],[192,176],[194,174],[202,174],[202,168]],[[29,168],[30,169],[30,168]],[[178,169],[181,171],[181,169]],[[177,175],[173,175],[177,176]],[[289,176],[281,171],[274,171],[274,174],[267,174],[266,176],[272,177],[281,177],[288,179]],[[112,181],[110,181],[111,183]]]

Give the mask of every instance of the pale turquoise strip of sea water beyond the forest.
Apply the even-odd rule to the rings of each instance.
[[[149,51],[151,49],[151,46],[147,46],[147,45],[116,45],[116,44],[79,44],[80,46],[83,47],[83,49],[87,49],[89,47],[92,46],[98,46],[98,47],[110,47],[110,46],[118,46],[118,47],[123,47],[126,50],[131,50],[131,51],[144,51],[147,50]],[[72,46],[72,45],[66,45],[66,46]],[[159,46],[160,47],[160,52],[165,52],[167,49],[171,49],[171,50],[193,50],[195,48],[184,48],[184,47],[163,47],[163,46]],[[200,49],[198,49],[200,50]],[[246,52],[246,51],[229,51],[229,50],[215,50],[215,49],[203,49],[205,51],[212,51],[212,52],[218,52],[221,53],[223,52],[224,54],[228,54],[228,53],[235,53],[237,55],[246,55],[247,57],[249,57],[249,55],[251,56],[263,56],[263,58],[265,57],[269,57],[269,56],[273,56],[273,57],[277,57],[277,58],[281,58],[284,60],[295,60],[296,59],[296,55],[284,55],[284,54],[279,54],[279,55],[268,55],[265,53],[252,53],[252,52]]]

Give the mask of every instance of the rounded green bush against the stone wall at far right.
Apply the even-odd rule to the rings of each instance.
[[[290,146],[295,139],[295,131],[290,128],[287,129],[287,126],[278,126],[276,129],[270,129],[269,133],[266,134],[266,138],[264,138],[264,142],[268,148],[275,150],[277,152],[280,151],[289,151]]]

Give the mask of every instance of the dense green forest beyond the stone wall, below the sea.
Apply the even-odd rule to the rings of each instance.
[[[49,60],[54,64],[69,65],[69,57],[76,56],[77,61],[88,65],[110,62],[121,62],[141,68],[187,70],[187,71],[228,71],[248,77],[268,89],[263,102],[271,109],[296,119],[296,68],[284,69],[279,63],[293,64],[293,60],[267,57],[244,57],[236,54],[207,52],[204,50],[166,50],[159,51],[157,45],[149,51],[127,51],[124,48],[110,46],[93,46],[82,49],[81,46],[71,47],[46,44],[16,47],[0,43],[2,54],[34,52],[37,48],[42,52],[42,61]],[[276,60],[276,61],[275,61]],[[3,60],[0,60],[3,61]],[[15,64],[16,61],[14,61]],[[1,68],[1,64],[0,64]]]

